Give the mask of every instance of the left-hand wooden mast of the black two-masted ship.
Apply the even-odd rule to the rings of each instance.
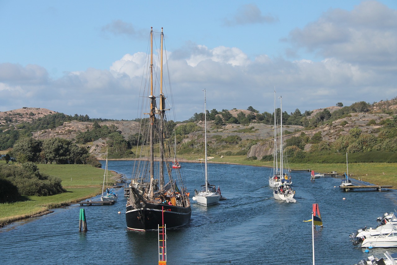
[[[153,96],[153,27],[150,27],[150,125],[149,125],[149,144],[150,144],[150,189],[149,196],[154,198],[154,114],[155,114],[155,97]]]

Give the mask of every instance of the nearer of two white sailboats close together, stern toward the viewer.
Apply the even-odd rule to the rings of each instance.
[[[274,192],[273,197],[276,200],[283,200],[288,202],[296,202],[294,198],[295,191],[293,190],[291,184],[291,175],[289,171],[284,168],[284,156],[283,156],[283,102],[280,96],[280,169],[278,172],[278,181],[274,182]],[[274,113],[276,116],[276,112]],[[284,172],[285,171],[285,172]],[[285,175],[284,175],[285,174]],[[269,179],[270,185],[270,179]]]

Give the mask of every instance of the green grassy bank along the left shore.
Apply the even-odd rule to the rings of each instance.
[[[104,170],[89,165],[38,165],[40,172],[62,179],[67,192],[52,196],[29,196],[27,201],[0,204],[0,224],[29,218],[51,208],[77,203],[102,192]],[[118,179],[114,172],[113,179]],[[109,183],[113,185],[113,183]]]

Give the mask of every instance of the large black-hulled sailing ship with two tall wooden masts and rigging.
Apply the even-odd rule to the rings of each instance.
[[[150,31],[150,56],[148,71],[150,79],[144,98],[146,117],[141,117],[141,130],[137,139],[137,159],[134,162],[131,191],[127,200],[125,219],[129,230],[157,230],[158,225],[177,228],[187,224],[191,217],[189,193],[179,169],[172,170],[175,158],[172,147],[172,132],[166,119],[166,97],[163,93],[163,42],[159,56],[160,77],[154,78],[153,69],[153,29]],[[169,80],[169,78],[168,78]],[[154,82],[157,82],[155,83]],[[171,87],[168,87],[169,90]],[[169,100],[168,102],[173,102]],[[145,110],[143,110],[145,111]],[[167,177],[165,177],[167,176]],[[164,222],[162,220],[164,216]]]

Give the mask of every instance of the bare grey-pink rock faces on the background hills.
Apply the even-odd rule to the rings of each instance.
[[[324,109],[328,109],[330,113],[335,110],[341,109],[341,107],[331,106]],[[324,109],[315,109],[313,113],[307,117],[310,119],[323,111]],[[385,111],[386,110],[386,111]],[[246,115],[252,113],[248,110],[240,110],[233,109],[229,111],[234,117],[237,116],[239,112],[243,112]],[[293,136],[300,136],[301,133],[306,134],[309,137],[312,137],[314,134],[320,132],[322,136],[322,140],[326,140],[329,142],[335,141],[340,135],[347,135],[352,128],[358,126],[363,134],[374,134],[377,135],[377,132],[383,125],[382,120],[384,119],[393,119],[393,115],[395,115],[397,111],[397,99],[393,99],[390,101],[380,101],[378,103],[374,103],[371,105],[370,111],[366,113],[351,113],[349,117],[345,117],[342,119],[338,119],[326,125],[322,125],[320,127],[304,130],[302,126],[297,125],[286,125],[284,126],[284,131],[290,132],[285,135],[285,140],[291,138]],[[21,109],[15,109],[12,111],[0,112],[0,124],[1,125],[9,125],[15,127],[15,125],[22,122],[31,122],[34,119],[38,119],[39,117],[44,117],[45,115],[50,115],[57,113],[56,111],[51,111],[48,109],[42,108],[31,108],[31,107],[23,107]],[[390,113],[390,114],[385,114]],[[374,120],[375,123],[372,122],[371,125],[367,125],[368,121]],[[114,125],[121,131],[121,134],[128,138],[130,134],[138,133],[139,123],[135,121],[106,121],[99,122],[99,125]],[[202,122],[197,123],[198,126],[204,127]],[[57,127],[55,129],[47,129],[33,133],[33,137],[37,139],[47,139],[53,137],[60,137],[66,139],[74,139],[77,134],[80,132],[85,132],[89,129],[93,129],[92,122],[80,122],[80,121],[71,121],[65,122],[62,126]],[[247,126],[239,125],[239,124],[227,124],[224,126],[216,126],[214,121],[208,122],[207,125],[208,130],[208,142],[214,142],[214,138],[221,136],[225,138],[227,136],[239,136],[242,140],[251,140],[257,142],[257,144],[251,146],[248,151],[248,157],[256,156],[257,159],[261,159],[263,156],[270,155],[273,153],[273,125],[265,125],[263,123],[251,123]],[[202,130],[190,133],[185,136],[183,139],[183,143],[189,142],[191,140],[196,140],[197,142],[203,142],[203,134]],[[99,139],[90,146],[90,153],[95,154],[100,157],[103,155],[103,150],[101,150],[106,143],[106,139]],[[305,150],[310,149],[310,144],[306,144]]]

